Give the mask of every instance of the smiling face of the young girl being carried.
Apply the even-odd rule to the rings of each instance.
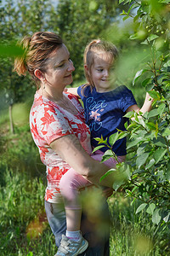
[[[94,64],[89,73],[98,92],[111,90],[110,73],[113,67],[113,57],[104,51],[94,52]]]

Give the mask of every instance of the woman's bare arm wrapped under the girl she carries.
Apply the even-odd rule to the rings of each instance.
[[[88,179],[91,183],[96,185],[103,185],[111,187],[113,185],[114,177],[109,175],[102,182],[99,182],[99,178],[102,177],[105,172],[110,168],[104,164],[100,164],[99,161],[94,160],[79,143],[78,139],[74,135],[66,135],[59,137],[50,144],[56,154],[65,160],[76,172],[81,174],[84,178]]]

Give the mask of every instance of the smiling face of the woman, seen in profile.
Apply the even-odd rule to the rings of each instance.
[[[75,67],[70,59],[70,53],[63,44],[48,59],[46,73],[44,74],[46,83],[55,88],[65,88],[66,85],[71,84],[71,73],[74,70]]]

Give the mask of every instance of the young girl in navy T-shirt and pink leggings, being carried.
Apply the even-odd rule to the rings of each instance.
[[[95,137],[103,136],[106,139],[115,133],[116,129],[125,130],[124,124],[127,121],[123,117],[125,113],[133,110],[145,113],[151,108],[152,101],[149,94],[146,94],[144,105],[140,109],[131,90],[128,90],[125,85],[115,86],[115,81],[111,80],[110,73],[116,64],[117,57],[118,50],[115,45],[101,40],[92,41],[84,52],[84,70],[88,84],[67,89],[82,99],[86,123],[91,131],[93,148],[98,144]],[[101,148],[92,157],[100,161],[107,149]],[[124,161],[127,154],[126,138],[118,140],[113,145],[113,151],[117,160]],[[116,160],[106,160],[105,165],[115,167]],[[61,178],[59,185],[65,201],[66,236],[71,240],[77,240],[80,236],[80,189],[92,185],[92,183],[71,168]],[[57,253],[57,255],[64,254]]]

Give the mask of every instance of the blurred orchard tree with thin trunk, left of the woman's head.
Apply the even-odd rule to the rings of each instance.
[[[2,97],[9,106],[11,131],[14,132],[12,106],[15,102],[25,101],[26,93],[31,90],[31,79],[19,77],[13,72],[16,42],[18,39],[40,30],[48,30],[48,13],[52,5],[48,0],[6,0],[0,9],[0,84]]]

